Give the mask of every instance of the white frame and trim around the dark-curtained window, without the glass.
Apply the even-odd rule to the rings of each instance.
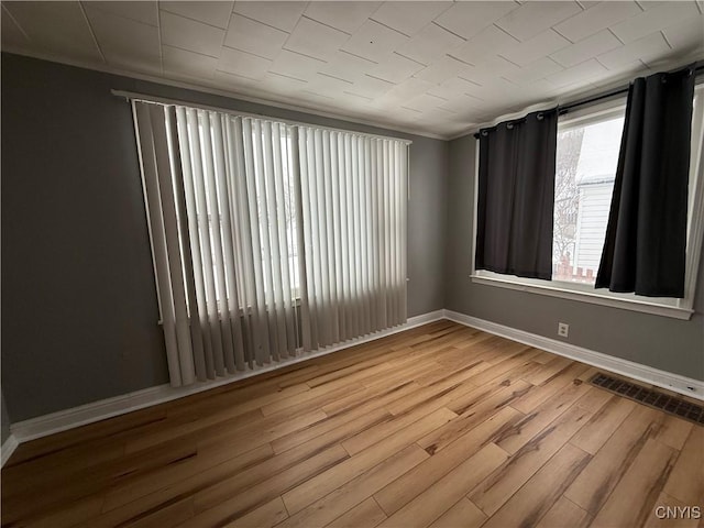
[[[476,254],[476,215],[479,200],[479,139],[475,140],[474,160],[474,208],[472,213],[472,261],[470,279],[473,284],[508,288],[531,294],[546,295],[562,299],[576,300],[601,306],[609,306],[629,311],[652,314],[674,319],[689,320],[694,314],[694,295],[702,256],[704,239],[704,81],[695,86],[696,102],[692,114],[692,154],[690,165],[690,195],[688,198],[686,263],[684,277],[684,297],[682,299],[644,297],[635,294],[618,294],[605,288],[596,289],[591,284],[566,280],[539,280],[535,278],[502,275],[486,270],[475,268]],[[570,128],[597,122],[613,117],[626,107],[626,97],[619,96],[605,102],[592,105],[571,112],[563,127]],[[561,124],[561,123],[560,123]],[[559,124],[559,125],[560,125]],[[563,129],[564,130],[564,129]]]

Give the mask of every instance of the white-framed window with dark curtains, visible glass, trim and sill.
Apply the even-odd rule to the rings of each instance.
[[[692,116],[686,292],[683,299],[640,297],[594,288],[608,221],[625,109],[626,100],[620,98],[560,118],[556,156],[552,280],[473,270],[474,282],[681,319],[690,318],[704,226],[704,84],[696,86]]]

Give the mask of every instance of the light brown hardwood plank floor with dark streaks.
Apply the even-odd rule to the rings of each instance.
[[[654,508],[704,509],[704,428],[594,372],[435,322],[22,444],[2,526],[703,527]]]

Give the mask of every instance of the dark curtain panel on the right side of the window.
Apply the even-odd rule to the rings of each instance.
[[[628,90],[597,288],[684,296],[693,95],[693,67]]]

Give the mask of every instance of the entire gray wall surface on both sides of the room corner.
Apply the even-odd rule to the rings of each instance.
[[[2,399],[13,420],[168,380],[132,120],[111,88],[410,139],[409,316],[444,307],[547,337],[565,321],[574,344],[704,380],[702,287],[697,314],[678,321],[471,284],[471,138],[437,141],[3,54]]]

